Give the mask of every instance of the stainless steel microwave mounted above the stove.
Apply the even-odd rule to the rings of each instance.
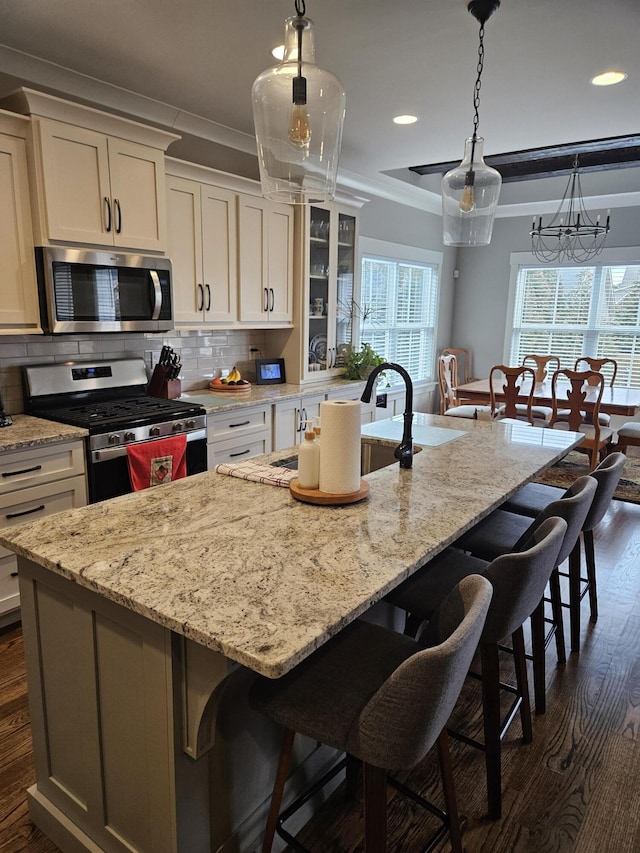
[[[168,258],[51,246],[36,248],[45,331],[166,332],[173,328]]]

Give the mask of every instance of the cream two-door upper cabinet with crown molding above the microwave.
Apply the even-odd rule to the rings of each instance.
[[[21,89],[4,101],[31,115],[38,244],[164,252],[164,152],[178,137]]]

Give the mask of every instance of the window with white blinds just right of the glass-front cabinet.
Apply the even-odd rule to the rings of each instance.
[[[360,341],[414,381],[433,380],[442,255],[367,238],[361,249]]]

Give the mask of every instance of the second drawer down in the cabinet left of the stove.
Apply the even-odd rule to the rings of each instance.
[[[65,509],[84,506],[86,502],[87,487],[84,475],[0,495],[0,529],[35,521]],[[8,553],[10,552],[0,547],[0,557]]]

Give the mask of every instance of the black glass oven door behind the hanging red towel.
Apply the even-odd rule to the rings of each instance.
[[[187,433],[187,476],[207,470],[207,431]],[[89,502],[115,498],[132,491],[126,447],[94,450],[88,463]]]

